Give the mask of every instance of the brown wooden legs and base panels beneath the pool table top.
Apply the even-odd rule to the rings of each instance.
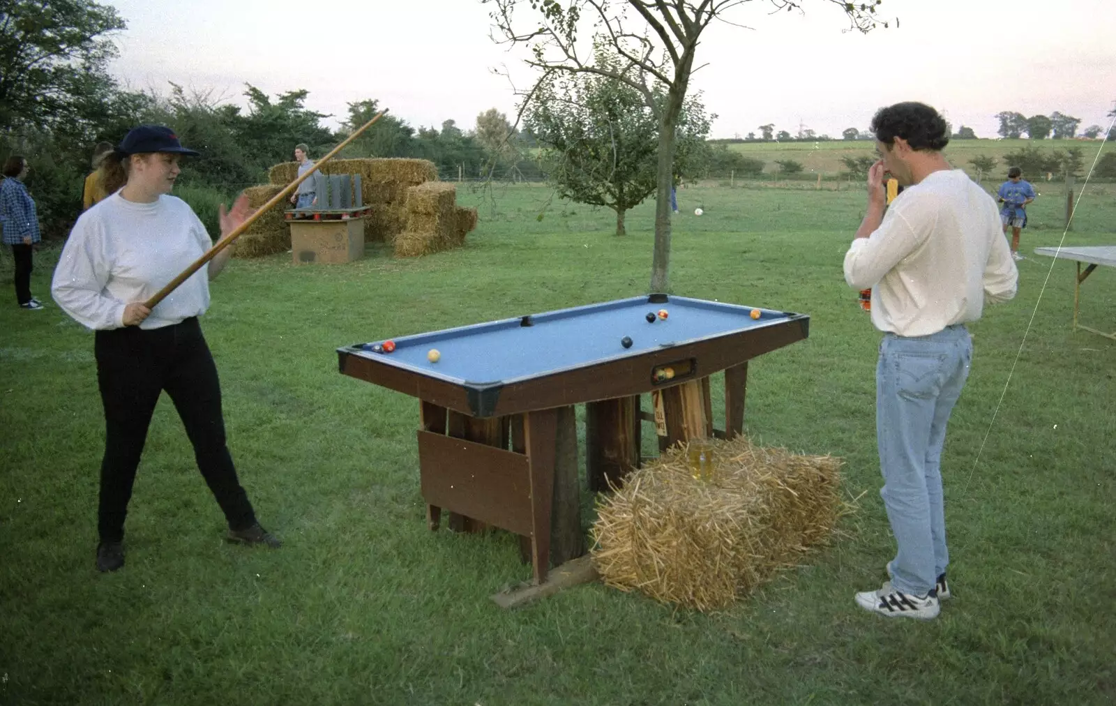
[[[660,451],[695,437],[732,439],[743,432],[748,363],[724,371],[725,429],[712,426],[710,379],[662,390],[667,433]],[[696,384],[708,429],[686,429],[687,384]],[[653,422],[641,411],[641,395],[586,404],[586,478],[589,490],[619,487],[639,467],[641,427]],[[451,530],[480,532],[488,526],[520,535],[533,580],[548,567],[585,554],[580,526],[580,474],[573,406],[510,417],[478,419],[420,401],[420,486],[426,522],[437,530],[443,511]],[[510,445],[510,448],[509,448]]]

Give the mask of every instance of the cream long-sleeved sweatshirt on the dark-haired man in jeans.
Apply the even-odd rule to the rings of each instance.
[[[995,202],[962,170],[904,189],[845,255],[845,282],[872,287],[873,325],[901,336],[977,321],[985,298],[1016,296],[1018,277]]]

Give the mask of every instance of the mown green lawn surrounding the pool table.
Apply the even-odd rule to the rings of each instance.
[[[1116,699],[1116,344],[1070,330],[1070,263],[1030,256],[1018,297],[971,326],[973,372],[944,459],[954,599],[929,623],[854,604],[894,552],[877,494],[879,336],[841,277],[863,212],[855,191],[681,190],[671,265],[676,294],[811,316],[807,341],[751,363],[745,428],[844,459],[845,495],[859,499],[840,536],[715,614],[600,584],[499,609],[490,595],[530,575],[516,541],[426,530],[415,401],[338,374],[335,349],[647,290],[653,204],[616,238],[610,211],[547,195],[463,189],[478,230],[468,247],[422,259],[369,247],[333,267],[233,260],[203,327],[242,483],[286,544],[222,544],[220,511],[164,397],[127,565],[109,575],[94,570],[93,337],[57,306],[18,309],[6,257],[0,703]],[[696,204],[705,216],[690,214]],[[1061,209],[1056,192],[1031,207],[1024,252],[1060,241]],[[1116,244],[1110,187],[1086,192],[1066,242]],[[40,298],[56,257],[38,254]],[[1084,323],[1116,328],[1116,270],[1098,269],[1083,297]],[[587,527],[588,492],[583,502]]]

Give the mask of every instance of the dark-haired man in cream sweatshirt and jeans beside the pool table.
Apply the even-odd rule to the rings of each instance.
[[[921,103],[881,108],[872,121],[879,161],[868,208],[845,255],[845,280],[872,288],[872,323],[884,332],[876,366],[881,495],[898,552],[891,580],[856,594],[888,617],[931,619],[950,598],[942,499],[945,427],[969,375],[965,323],[983,303],[1016,295],[1018,270],[995,202],[941,151],[945,121]],[[885,211],[884,174],[906,187]]]

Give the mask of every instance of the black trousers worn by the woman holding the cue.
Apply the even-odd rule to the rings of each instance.
[[[224,512],[229,527],[250,527],[256,515],[237,479],[225,445],[217,365],[198,319],[187,318],[151,331],[136,326],[98,331],[94,347],[106,430],[97,513],[100,541],[124,538],[132,485],[147,427],[163,390],[179,411],[194,447],[198,468]]]

